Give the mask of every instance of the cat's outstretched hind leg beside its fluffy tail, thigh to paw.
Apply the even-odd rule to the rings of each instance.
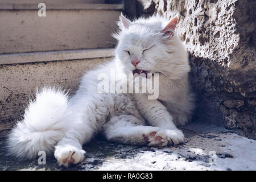
[[[72,102],[71,105],[73,105],[72,119],[70,119],[72,128],[57,143],[54,154],[60,166],[65,167],[69,164],[77,164],[84,159],[85,151],[82,150],[82,145],[89,142],[101,129],[109,113],[104,96],[79,98],[78,102]]]

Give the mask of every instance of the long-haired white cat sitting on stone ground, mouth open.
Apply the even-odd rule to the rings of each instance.
[[[113,61],[89,71],[76,94],[44,88],[27,107],[24,119],[11,130],[10,154],[34,158],[38,151],[51,152],[68,167],[84,158],[82,144],[102,131],[110,141],[147,146],[184,142],[183,126],[191,119],[193,97],[189,91],[187,52],[175,34],[177,18],[170,22],[158,16],[134,22],[121,14],[121,31]],[[159,97],[147,94],[101,94],[100,73],[120,81],[128,73],[159,73]],[[154,76],[154,75],[153,75]]]

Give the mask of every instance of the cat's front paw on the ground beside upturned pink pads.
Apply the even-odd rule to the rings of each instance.
[[[185,139],[181,130],[160,130],[155,135],[166,139],[169,145],[183,143]]]

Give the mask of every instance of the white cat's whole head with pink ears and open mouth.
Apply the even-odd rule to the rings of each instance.
[[[117,61],[126,73],[163,73],[176,78],[189,72],[187,51],[175,34],[177,17],[159,16],[131,22],[121,14]]]

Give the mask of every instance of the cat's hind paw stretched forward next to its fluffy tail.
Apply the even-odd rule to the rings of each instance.
[[[77,164],[84,159],[84,150],[73,146],[58,146],[54,152],[54,156],[57,159],[59,166],[68,167],[69,164]]]

